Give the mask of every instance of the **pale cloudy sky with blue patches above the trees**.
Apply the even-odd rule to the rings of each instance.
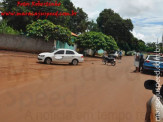
[[[163,0],[71,0],[90,20],[96,20],[105,8],[111,8],[134,24],[133,34],[145,42],[161,41],[163,34]]]

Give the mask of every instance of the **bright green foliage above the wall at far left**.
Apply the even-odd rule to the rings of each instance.
[[[10,26],[8,26],[6,20],[1,20],[0,21],[0,33],[18,35],[19,31],[16,31]]]

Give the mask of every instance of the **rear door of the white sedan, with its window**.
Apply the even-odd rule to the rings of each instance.
[[[66,50],[64,60],[68,63],[71,63],[74,58],[75,58],[75,52],[71,50]]]

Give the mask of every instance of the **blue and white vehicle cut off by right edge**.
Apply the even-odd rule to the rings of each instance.
[[[163,72],[163,57],[156,55],[148,55],[143,64],[143,72],[154,72],[159,70]]]

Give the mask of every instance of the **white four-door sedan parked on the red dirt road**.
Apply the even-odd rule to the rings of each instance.
[[[54,63],[70,63],[73,65],[78,65],[78,63],[84,61],[82,54],[77,53],[70,49],[58,49],[54,52],[40,53],[38,55],[38,61],[44,62],[46,64]]]

